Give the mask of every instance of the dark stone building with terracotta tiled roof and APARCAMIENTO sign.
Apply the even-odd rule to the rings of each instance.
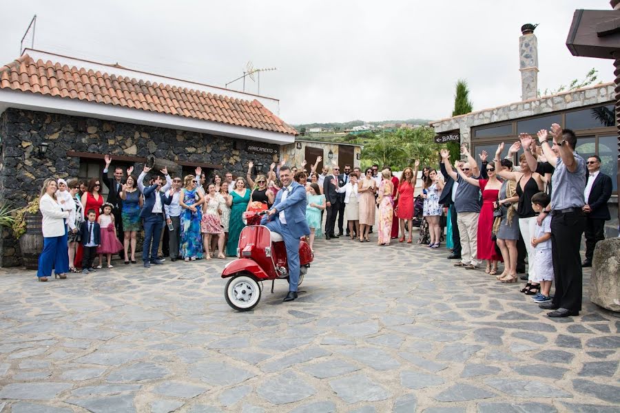
[[[273,98],[26,50],[0,67],[0,204],[25,205],[45,178],[101,179],[107,153],[135,175],[154,157],[174,162],[171,175],[245,177],[294,142],[278,111]],[[19,263],[5,230],[0,265]]]

